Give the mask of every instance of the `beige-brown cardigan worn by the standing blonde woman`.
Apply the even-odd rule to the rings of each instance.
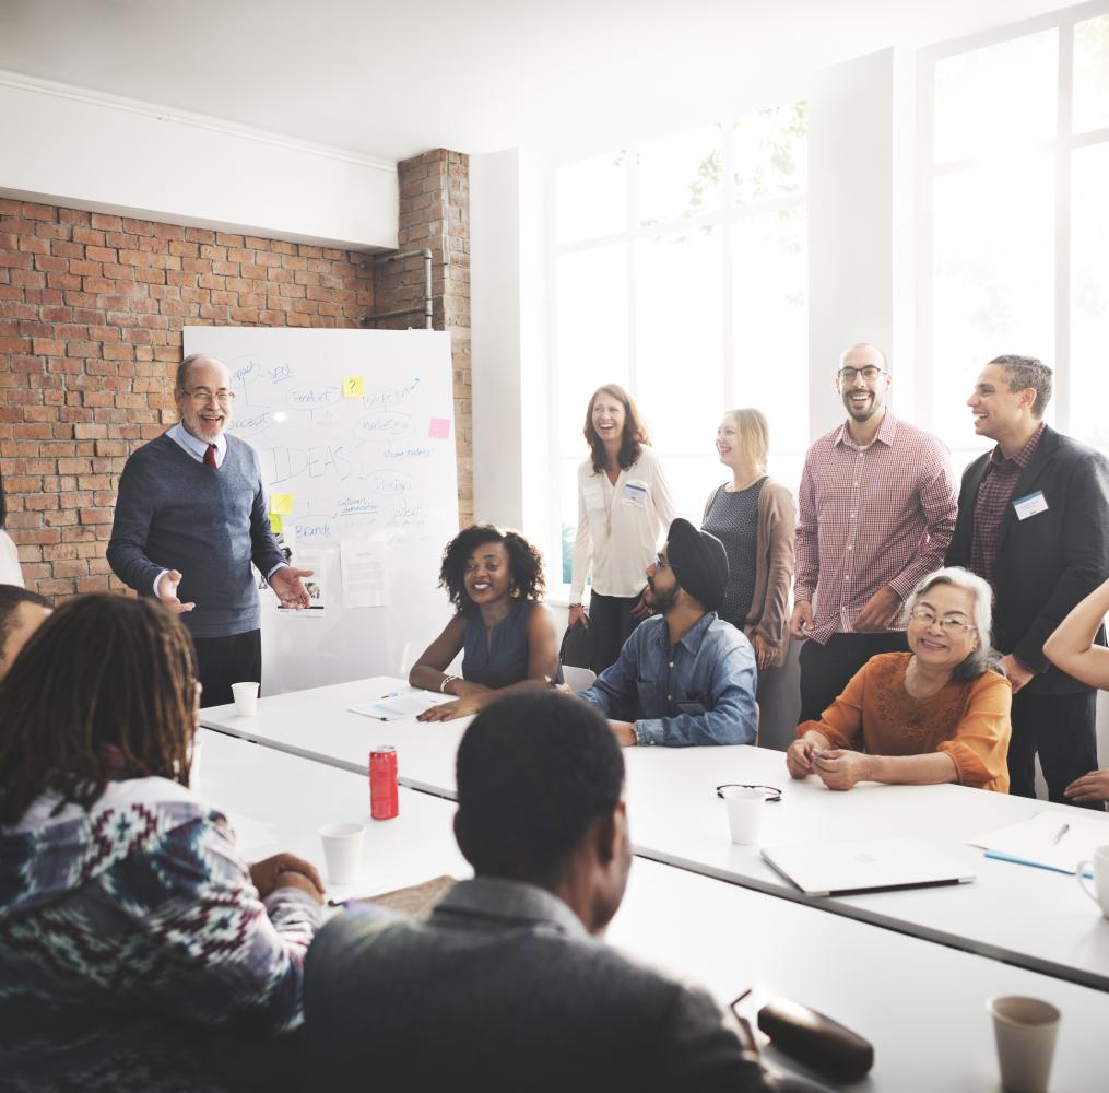
[[[709,515],[715,496],[716,490],[713,489],[705,502],[704,516]],[[785,664],[790,649],[790,588],[793,585],[793,533],[796,524],[793,495],[785,486],[767,478],[759,494],[755,590],[743,632],[749,638],[757,634],[777,649],[772,668],[781,668]]]

